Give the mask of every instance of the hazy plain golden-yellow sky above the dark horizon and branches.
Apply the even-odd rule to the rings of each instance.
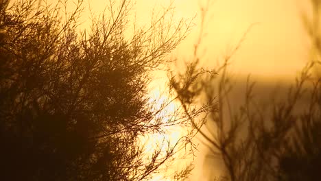
[[[206,36],[203,37],[203,63],[213,67],[219,58],[233,49],[251,24],[241,48],[233,57],[233,73],[260,77],[292,77],[305,64],[309,56],[309,43],[302,28],[300,15],[307,10],[305,0],[211,0]],[[104,10],[106,0],[88,2],[93,12]],[[132,15],[136,23],[149,23],[152,10],[167,7],[171,0],[136,0]],[[174,51],[175,56],[188,60],[198,34],[200,5],[206,0],[174,0],[176,18],[192,18],[196,26],[191,35]],[[183,57],[183,58],[182,58]]]

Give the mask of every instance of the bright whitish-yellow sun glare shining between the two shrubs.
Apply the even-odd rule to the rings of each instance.
[[[178,119],[180,116],[178,113],[178,111],[180,111],[180,103],[176,100],[173,100],[171,95],[166,94],[167,90],[165,88],[167,87],[167,77],[164,76],[163,72],[161,71],[156,72],[154,77],[156,78],[151,82],[149,88],[150,103],[154,105],[152,111],[161,111],[156,114],[154,117],[155,120],[152,120],[152,123],[154,123],[154,121],[160,121],[160,123],[167,126],[163,127],[164,132],[162,133],[150,133],[141,137],[141,143],[145,148],[147,158],[152,156],[152,154],[159,149],[162,152],[160,156],[165,156],[169,149],[175,147],[177,143],[180,143],[180,138],[182,138],[182,136],[185,134],[185,131],[180,125],[170,125],[171,121]],[[152,180],[163,180],[164,174],[173,174],[175,171],[182,169],[185,164],[191,161],[188,159],[182,161],[180,158],[184,155],[185,151],[180,151],[177,154],[174,154],[174,156],[170,158],[170,160],[174,160],[174,162],[171,162],[171,168],[160,168],[164,169],[165,173],[160,173],[162,176],[158,176],[156,173]],[[176,166],[173,167],[173,165]]]

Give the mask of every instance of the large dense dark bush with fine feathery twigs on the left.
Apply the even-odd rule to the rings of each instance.
[[[159,116],[168,102],[150,103],[147,85],[191,22],[165,23],[168,8],[126,38],[131,3],[109,2],[79,33],[82,0],[73,12],[68,1],[0,1],[1,180],[146,180],[191,143],[193,130],[151,154],[140,141],[186,125]]]

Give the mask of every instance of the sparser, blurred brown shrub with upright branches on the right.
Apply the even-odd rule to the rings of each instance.
[[[318,12],[320,1],[311,2]],[[275,99],[259,104],[259,97],[254,96],[254,82],[248,77],[245,103],[238,110],[233,109],[230,99],[233,81],[228,76],[228,64],[244,38],[224,57],[222,66],[217,69],[206,71],[198,67],[200,57],[195,53],[187,71],[179,78],[171,79],[183,105],[189,106],[191,101],[186,100],[191,97],[203,97],[202,101],[212,103],[206,126],[195,125],[195,128],[204,138],[211,155],[222,159],[224,173],[221,180],[320,180],[320,29],[316,29],[319,17],[320,14],[315,14],[316,20],[305,19],[315,54],[313,61],[307,63],[287,90],[284,99],[276,99],[278,95],[275,93]],[[197,120],[189,119],[191,122]]]

